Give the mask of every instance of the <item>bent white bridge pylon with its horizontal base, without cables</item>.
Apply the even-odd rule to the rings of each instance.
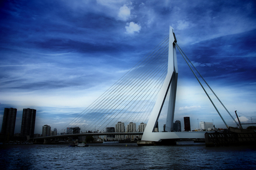
[[[170,27],[168,73],[165,77],[164,84],[161,87],[161,90],[159,91],[159,94],[157,96],[155,106],[152,109],[149,121],[147,122],[141,141],[161,141],[176,138],[204,138],[205,132],[171,132],[173,131],[176,89],[178,81],[178,65],[176,57],[176,46],[174,42],[176,43],[174,29]],[[168,94],[169,101],[168,112],[166,116],[166,132],[154,132]]]

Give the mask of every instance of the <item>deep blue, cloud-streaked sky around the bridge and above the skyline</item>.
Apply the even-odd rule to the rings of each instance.
[[[0,126],[6,107],[37,110],[43,125],[67,123],[174,28],[177,43],[230,114],[256,123],[255,1],[1,1]],[[223,121],[177,50],[175,120]],[[220,109],[229,126],[231,117]],[[160,117],[163,120],[164,117]],[[184,127],[184,126],[183,126]],[[244,126],[246,127],[246,125]]]

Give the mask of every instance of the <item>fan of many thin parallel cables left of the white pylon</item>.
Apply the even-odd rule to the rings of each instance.
[[[91,131],[95,126],[97,129],[106,127],[106,120],[112,122],[125,120],[125,114],[127,114],[126,121],[129,121],[127,118],[131,120],[132,116],[129,115],[134,116],[132,120],[140,120],[138,117],[145,114],[146,105],[151,103],[150,99],[155,99],[154,95],[156,95],[157,89],[151,90],[150,88],[152,86],[159,88],[159,84],[163,81],[161,76],[167,69],[166,50],[168,50],[168,45],[166,44],[168,43],[169,36],[65,127],[79,126],[81,131]],[[160,78],[157,79],[156,76],[160,76]],[[146,85],[149,86],[146,87]],[[152,91],[154,91],[153,95],[147,94]],[[132,93],[135,95],[132,96]],[[140,101],[132,101],[134,99]],[[139,108],[135,109],[135,106]],[[139,111],[139,114],[136,114],[136,111]]]

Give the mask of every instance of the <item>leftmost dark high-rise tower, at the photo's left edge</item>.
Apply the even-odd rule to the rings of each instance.
[[[14,128],[16,122],[17,109],[4,108],[3,112],[3,123],[1,133],[3,135],[14,135]]]

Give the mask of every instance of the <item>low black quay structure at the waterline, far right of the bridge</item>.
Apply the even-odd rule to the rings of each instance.
[[[228,130],[205,133],[205,146],[244,146],[256,145],[254,130],[229,127]]]

